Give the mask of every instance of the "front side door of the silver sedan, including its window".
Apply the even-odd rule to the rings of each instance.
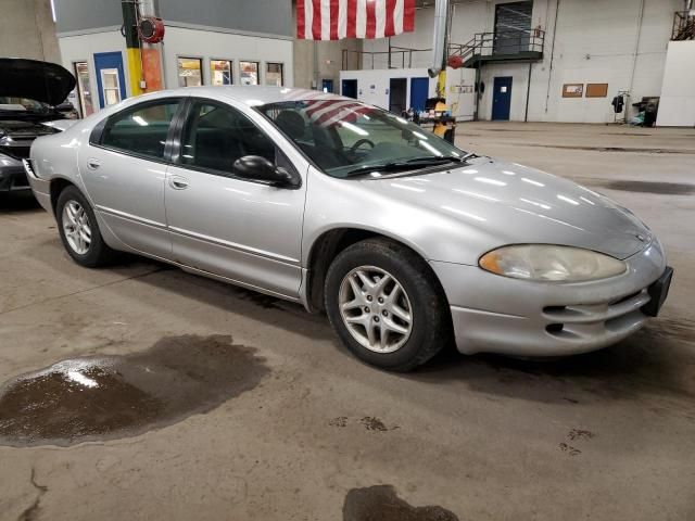
[[[244,155],[293,166],[260,126],[212,100],[191,103],[180,143],[166,182],[175,260],[296,298],[305,183],[276,188],[237,177],[232,167]]]

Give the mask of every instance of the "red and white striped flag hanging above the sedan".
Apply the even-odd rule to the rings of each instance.
[[[415,0],[296,0],[301,40],[386,38],[415,30]]]

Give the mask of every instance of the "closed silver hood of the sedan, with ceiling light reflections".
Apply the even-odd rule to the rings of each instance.
[[[362,182],[390,199],[484,232],[489,241],[482,247],[564,244],[623,259],[652,241],[645,225],[608,198],[567,179],[490,157],[476,157],[445,171]]]

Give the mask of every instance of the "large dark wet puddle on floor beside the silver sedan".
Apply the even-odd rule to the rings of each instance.
[[[129,437],[207,412],[269,372],[229,335],[164,338],[142,353],[63,360],[0,387],[0,444]]]

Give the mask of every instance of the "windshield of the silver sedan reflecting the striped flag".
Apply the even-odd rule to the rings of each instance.
[[[258,107],[332,177],[405,171],[460,162],[465,152],[390,112],[344,99]]]

